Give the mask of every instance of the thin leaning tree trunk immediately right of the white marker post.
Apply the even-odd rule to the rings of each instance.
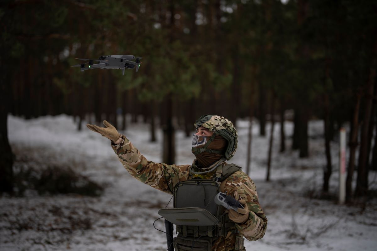
[[[355,157],[357,148],[357,132],[359,131],[359,110],[361,94],[356,97],[356,105],[351,125],[351,134],[349,139],[349,163],[346,178],[346,202],[350,202],[352,196],[352,176],[355,170]]]

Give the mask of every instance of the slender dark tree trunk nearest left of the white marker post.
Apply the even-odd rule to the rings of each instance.
[[[325,129],[325,153],[326,153],[326,168],[323,170],[323,192],[328,192],[329,190],[329,180],[331,173],[333,171],[333,166],[331,164],[331,151],[330,151],[330,108],[329,108],[329,97],[325,95],[325,118],[324,118],[324,129]]]

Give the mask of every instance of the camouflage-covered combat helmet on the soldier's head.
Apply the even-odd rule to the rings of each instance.
[[[238,135],[232,122],[217,115],[204,115],[196,120],[194,126],[196,129],[203,126],[204,128],[214,132],[214,134],[219,134],[224,137],[225,140],[228,141],[228,146],[225,150],[224,157],[227,160],[230,160],[230,158],[233,157],[237,149]]]

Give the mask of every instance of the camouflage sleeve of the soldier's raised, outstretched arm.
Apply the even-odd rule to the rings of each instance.
[[[111,144],[118,159],[137,180],[163,192],[173,194],[174,186],[189,177],[190,165],[167,165],[148,161],[124,136],[118,145]]]

